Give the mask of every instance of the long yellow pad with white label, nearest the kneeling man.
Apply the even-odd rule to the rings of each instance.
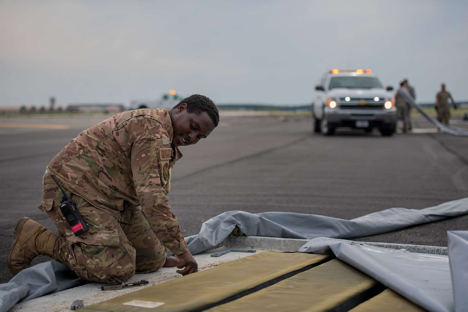
[[[242,291],[301,268],[314,265],[328,256],[304,253],[263,252],[238,260],[221,263],[214,268],[176,278],[165,283],[83,307],[80,312],[168,312],[192,311],[219,302]],[[156,273],[157,274],[157,273]],[[159,305],[143,308],[124,305],[132,301],[141,305]],[[161,305],[160,303],[163,303]],[[241,310],[239,310],[241,311]]]

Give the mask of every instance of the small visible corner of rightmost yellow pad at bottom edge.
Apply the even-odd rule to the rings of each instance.
[[[415,305],[405,297],[400,296],[391,289],[382,291],[375,297],[370,298],[366,302],[358,305],[350,312],[425,312],[423,308]]]

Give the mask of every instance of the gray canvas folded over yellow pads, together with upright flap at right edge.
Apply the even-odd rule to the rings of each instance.
[[[448,231],[448,256],[391,251],[344,239],[309,240],[300,252],[335,254],[431,312],[468,311],[468,231]]]

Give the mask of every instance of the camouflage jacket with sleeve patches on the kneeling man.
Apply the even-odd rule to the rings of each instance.
[[[132,222],[141,205],[164,246],[183,254],[187,244],[167,196],[170,169],[182,157],[171,148],[172,135],[169,109],[123,112],[82,131],[47,168],[66,189],[117,219],[117,210],[125,210]]]

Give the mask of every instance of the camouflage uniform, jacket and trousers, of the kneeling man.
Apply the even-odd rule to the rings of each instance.
[[[55,156],[48,172],[70,192],[89,228],[73,234],[46,173],[39,208],[65,236],[54,248],[58,261],[83,279],[121,283],[161,268],[166,248],[188,250],[168,204],[170,171],[182,157],[171,148],[172,135],[170,110],[137,109],[82,131]]]

